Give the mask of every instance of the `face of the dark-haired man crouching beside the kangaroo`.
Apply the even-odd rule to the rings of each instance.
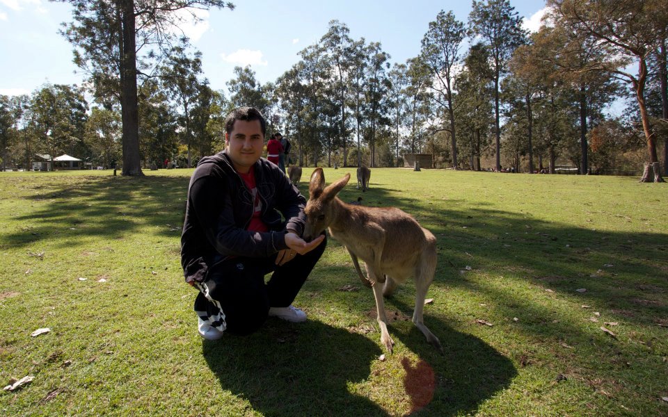
[[[246,174],[262,156],[264,135],[260,120],[237,120],[230,133],[225,133],[228,155],[237,172]]]

